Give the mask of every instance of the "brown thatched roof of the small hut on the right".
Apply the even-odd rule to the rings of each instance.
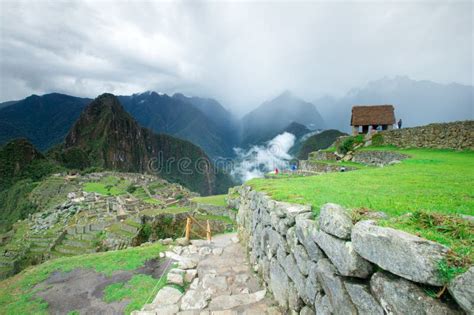
[[[352,107],[351,126],[393,125],[395,113],[392,105]]]

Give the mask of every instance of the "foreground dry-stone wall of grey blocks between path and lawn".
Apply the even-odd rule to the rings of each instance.
[[[438,262],[448,248],[374,221],[353,224],[326,204],[277,202],[248,186],[231,189],[239,236],[250,263],[280,306],[297,314],[472,314],[474,268],[448,286],[453,299],[426,287],[443,285]]]

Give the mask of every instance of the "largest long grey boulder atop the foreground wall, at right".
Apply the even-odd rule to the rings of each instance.
[[[352,244],[359,255],[384,270],[415,282],[443,284],[438,263],[449,250],[443,245],[377,226],[373,221],[361,221],[354,226]]]

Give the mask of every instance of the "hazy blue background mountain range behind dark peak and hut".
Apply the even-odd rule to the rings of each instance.
[[[327,96],[312,103],[285,91],[241,119],[215,99],[180,93],[136,93],[118,100],[141,126],[191,141],[215,159],[234,157],[234,148],[263,145],[283,132],[296,135],[295,143],[316,130],[347,132],[353,105],[392,104],[405,127],[473,119],[473,97],[472,86],[398,76],[353,88],[341,98]],[[1,103],[0,145],[24,137],[46,151],[64,139],[91,100],[52,93]]]

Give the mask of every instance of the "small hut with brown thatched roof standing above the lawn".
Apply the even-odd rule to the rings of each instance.
[[[395,124],[393,105],[353,106],[352,134],[367,134],[372,130],[390,130]]]

